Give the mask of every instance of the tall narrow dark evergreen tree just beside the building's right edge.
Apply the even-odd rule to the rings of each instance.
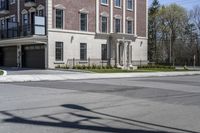
[[[158,31],[158,13],[160,4],[154,0],[149,8],[149,41],[148,55],[151,62],[157,62],[157,31]]]

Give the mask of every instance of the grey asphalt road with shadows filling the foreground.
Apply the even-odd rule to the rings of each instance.
[[[199,133],[200,76],[0,84],[0,133]]]

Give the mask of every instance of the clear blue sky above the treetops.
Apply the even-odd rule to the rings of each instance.
[[[149,5],[152,4],[153,0],[149,0]],[[171,3],[176,3],[185,7],[187,10],[191,10],[194,6],[200,6],[200,0],[159,0],[161,5],[169,5]]]

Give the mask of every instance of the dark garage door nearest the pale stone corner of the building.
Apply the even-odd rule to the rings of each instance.
[[[22,47],[22,66],[25,68],[45,68],[44,45]]]

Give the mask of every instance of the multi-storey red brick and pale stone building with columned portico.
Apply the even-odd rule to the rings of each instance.
[[[147,64],[147,0],[0,0],[0,65]]]

